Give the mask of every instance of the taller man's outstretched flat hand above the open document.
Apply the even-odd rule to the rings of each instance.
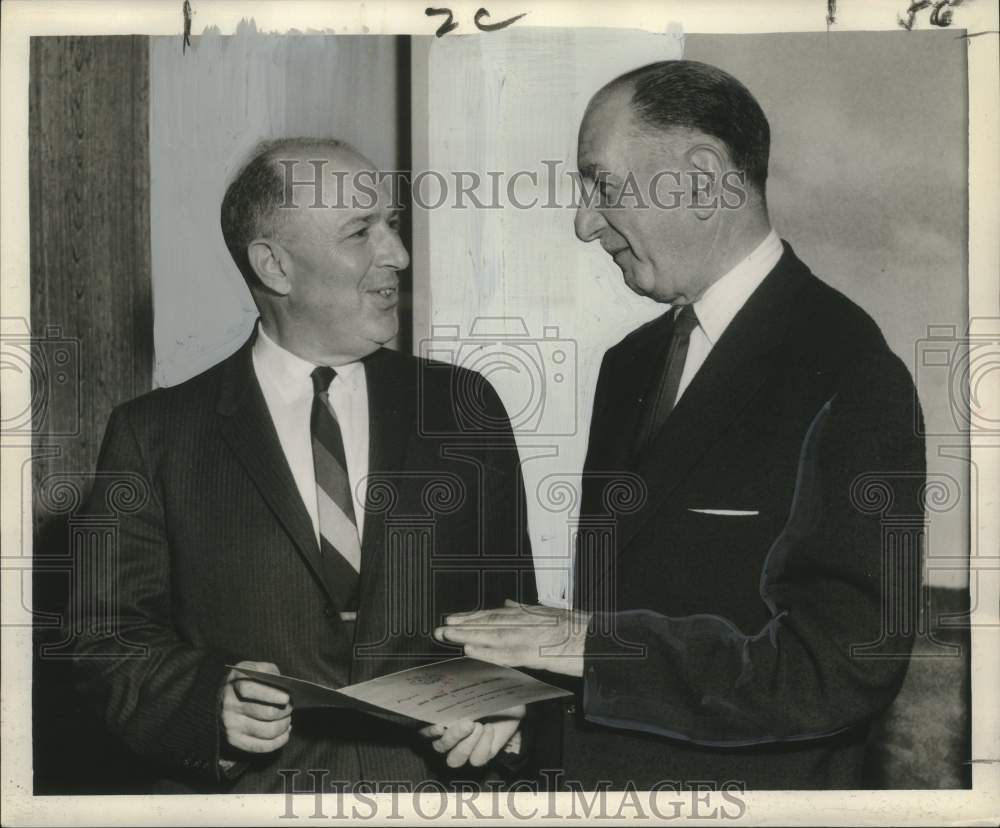
[[[449,615],[434,637],[461,644],[470,658],[582,676],[589,622],[589,613],[508,600],[501,609]]]

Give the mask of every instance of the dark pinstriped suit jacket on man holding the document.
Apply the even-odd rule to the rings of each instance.
[[[226,778],[220,689],[226,665],[244,659],[342,686],[460,655],[431,638],[444,615],[535,600],[503,405],[478,374],[384,349],[365,360],[370,461],[352,651],[251,342],[111,417],[88,512],[114,511],[117,537],[84,550],[80,565],[115,574],[91,578],[72,616],[84,687],[108,727],[156,763],[158,790],[280,791],[280,769],[301,771],[304,790],[310,769],[328,771],[328,787],[434,778],[443,763],[412,729],[334,711],[296,712],[284,748],[244,754]]]

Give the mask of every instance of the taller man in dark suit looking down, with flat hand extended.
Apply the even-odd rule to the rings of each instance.
[[[574,607],[437,632],[565,678],[570,785],[861,787],[903,680],[914,629],[883,622],[916,596],[884,573],[919,550],[865,486],[922,515],[919,407],[875,322],[771,227],[769,144],[743,84],[692,61],[615,79],[580,127],[576,233],[669,309],[601,366]]]

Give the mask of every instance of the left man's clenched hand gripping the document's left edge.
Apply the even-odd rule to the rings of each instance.
[[[236,666],[281,675],[277,666],[267,661],[241,661]],[[270,753],[288,741],[292,700],[284,690],[230,670],[222,692],[222,727],[226,741],[237,750]]]

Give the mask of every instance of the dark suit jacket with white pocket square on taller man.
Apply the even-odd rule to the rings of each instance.
[[[914,632],[894,625],[913,580],[891,580],[918,566],[923,520],[910,376],[786,245],[635,457],[671,325],[601,367],[575,581],[595,615],[566,779],[859,787]]]

